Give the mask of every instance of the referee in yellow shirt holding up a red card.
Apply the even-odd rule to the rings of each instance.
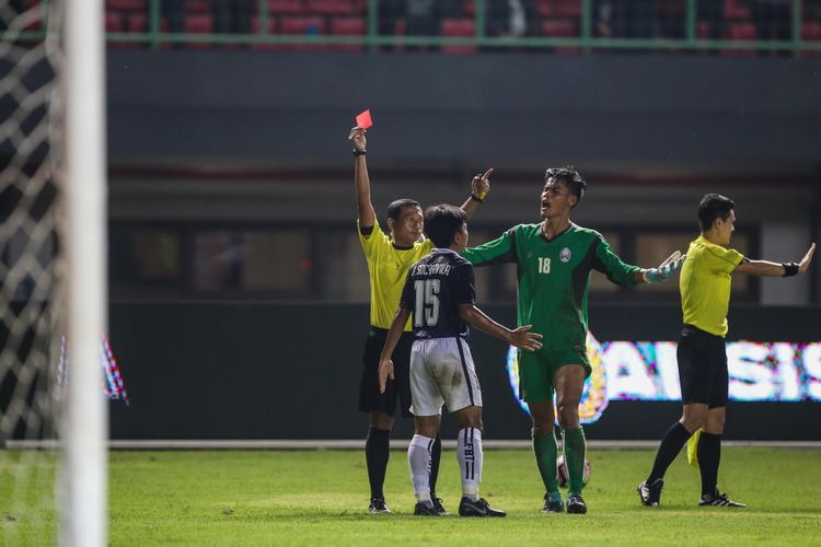
[[[359,241],[368,260],[368,275],[371,286],[370,333],[362,356],[362,381],[359,388],[359,410],[370,415],[370,429],[365,443],[365,458],[368,466],[368,480],[371,488],[371,513],[390,513],[385,504],[382,486],[388,470],[390,434],[398,403],[404,417],[410,417],[409,361],[414,338],[410,322],[393,352],[395,380],[386,386],[385,393],[379,389],[379,358],[385,344],[388,330],[400,304],[402,289],[410,266],[433,249],[429,240],[423,238],[423,213],[418,201],[397,199],[388,206],[388,229],[391,235],[382,232],[371,202],[370,179],[366,163],[365,130],[355,127],[348,140],[354,148],[354,182],[359,208]],[[472,181],[472,193],[462,205],[470,218],[489,191],[488,177],[493,170],[476,175]],[[442,442],[439,437],[431,447],[430,496],[437,512],[444,514],[441,500],[436,497],[436,479],[439,473],[439,458]]]

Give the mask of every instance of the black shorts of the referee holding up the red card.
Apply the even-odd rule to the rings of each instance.
[[[379,393],[379,356],[385,346],[388,330],[371,327],[365,342],[362,356],[362,382],[359,386],[359,410],[362,412],[396,414],[396,403],[402,406],[402,416],[410,414],[410,347],[414,344],[413,333],[402,333],[396,349],[393,350],[394,380],[388,380],[385,393]]]

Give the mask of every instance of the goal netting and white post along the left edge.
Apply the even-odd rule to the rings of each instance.
[[[105,539],[101,25],[93,1],[0,0],[3,545]]]

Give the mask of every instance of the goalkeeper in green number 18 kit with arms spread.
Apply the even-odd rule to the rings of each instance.
[[[587,187],[578,171],[548,168],[544,183],[542,222],[513,226],[463,256],[475,266],[517,264],[518,325],[533,325],[544,336],[541,350],[519,353],[519,393],[533,420],[533,452],[547,490],[544,511],[564,510],[556,480],[555,392],[569,475],[567,512],[586,513],[581,498],[586,442],[579,401],[591,372],[585,344],[590,270],[622,286],[662,282],[679,269],[683,257],[671,257],[652,269],[624,264],[600,233],[570,222],[570,210]]]

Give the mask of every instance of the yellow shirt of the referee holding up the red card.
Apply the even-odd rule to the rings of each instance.
[[[433,249],[430,240],[414,243],[407,249],[396,248],[391,238],[379,228],[379,220],[374,221],[373,231],[365,236],[359,230],[359,243],[362,244],[365,257],[368,259],[368,275],[371,281],[371,326],[391,328],[393,316],[400,305],[402,289],[405,287],[407,270],[419,258]],[[405,331],[410,330],[410,318],[407,319]]]

